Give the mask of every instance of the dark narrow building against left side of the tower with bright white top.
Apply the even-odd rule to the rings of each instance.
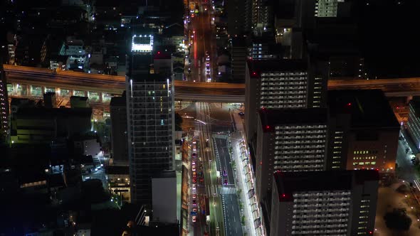
[[[116,166],[128,166],[127,98],[112,97],[110,102],[112,161]]]

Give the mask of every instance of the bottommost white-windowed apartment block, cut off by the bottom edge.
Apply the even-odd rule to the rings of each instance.
[[[270,235],[372,235],[377,171],[274,174]]]

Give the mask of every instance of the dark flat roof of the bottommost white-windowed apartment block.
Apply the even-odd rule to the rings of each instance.
[[[350,190],[365,181],[379,181],[376,170],[359,171],[305,171],[274,173],[280,201],[293,200],[293,193],[308,191]]]

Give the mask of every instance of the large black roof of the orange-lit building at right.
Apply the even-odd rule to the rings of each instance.
[[[399,129],[382,90],[330,90],[327,96],[330,114],[351,114],[351,127],[393,127]]]

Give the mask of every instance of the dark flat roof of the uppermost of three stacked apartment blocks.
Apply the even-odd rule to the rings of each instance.
[[[248,60],[248,68],[251,75],[274,71],[307,70],[308,63],[305,60]],[[254,74],[256,73],[256,74]],[[258,77],[256,76],[256,77]]]

